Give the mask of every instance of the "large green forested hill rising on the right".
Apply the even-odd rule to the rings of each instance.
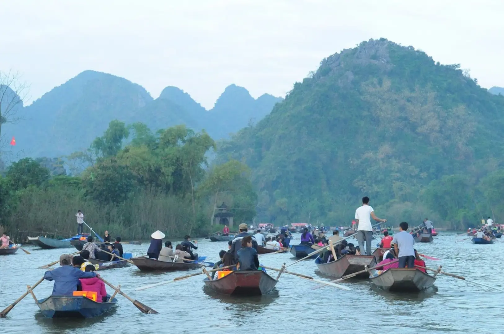
[[[218,161],[253,170],[262,221],[345,224],[364,195],[395,225],[504,219],[494,198],[504,193],[504,97],[459,67],[386,39],[362,42],[221,143]]]

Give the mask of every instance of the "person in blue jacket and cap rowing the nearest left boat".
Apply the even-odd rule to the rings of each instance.
[[[80,268],[72,266],[72,257],[69,254],[63,254],[59,257],[59,268],[46,271],[44,279],[54,281],[52,295],[54,296],[72,296],[77,291],[80,284],[80,278],[96,277],[94,272],[83,272]]]

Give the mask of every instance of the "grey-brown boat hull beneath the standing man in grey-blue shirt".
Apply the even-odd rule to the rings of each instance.
[[[371,275],[376,270],[371,270]],[[378,276],[371,277],[371,282],[386,291],[420,292],[430,288],[436,281],[417,268],[391,268]]]

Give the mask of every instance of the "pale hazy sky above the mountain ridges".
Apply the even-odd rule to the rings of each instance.
[[[232,83],[284,96],[323,58],[385,37],[490,88],[504,86],[503,15],[499,0],[3,0],[0,70],[22,72],[31,100],[94,69],[211,108]]]

